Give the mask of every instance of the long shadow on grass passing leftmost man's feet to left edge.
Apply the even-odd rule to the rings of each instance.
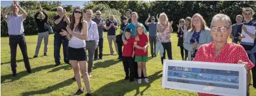
[[[31,69],[32,72],[35,72],[34,74],[36,74],[36,72],[39,72],[41,70],[45,70],[45,69],[50,69],[54,67],[53,64],[50,64],[50,65],[47,65],[47,66],[40,66],[40,67],[36,67],[36,68],[33,68]],[[33,75],[34,75],[33,74]],[[24,76],[28,76],[30,75],[26,70],[23,71],[23,72],[19,72],[17,73],[18,76],[16,77],[13,77],[13,74],[9,74],[9,75],[4,75],[4,76],[1,76],[1,83],[7,83],[7,82],[13,82],[15,80],[19,80],[20,78],[24,77]],[[11,79],[10,81],[7,81],[5,82],[5,80],[8,80],[8,79]]]

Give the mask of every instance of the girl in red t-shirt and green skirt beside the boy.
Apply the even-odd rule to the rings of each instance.
[[[141,83],[141,72],[145,76],[145,82],[148,83],[146,62],[148,61],[148,36],[145,33],[143,24],[136,26],[136,33],[133,37],[135,47],[135,61],[138,63],[138,83]]]

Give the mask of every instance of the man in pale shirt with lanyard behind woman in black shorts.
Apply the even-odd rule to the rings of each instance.
[[[92,69],[93,69],[93,55],[95,53],[95,49],[99,44],[99,32],[97,30],[97,24],[95,21],[92,21],[93,11],[86,10],[85,17],[88,25],[88,37],[86,39],[86,49],[88,49],[89,60],[88,60],[88,73],[89,76],[92,76]]]

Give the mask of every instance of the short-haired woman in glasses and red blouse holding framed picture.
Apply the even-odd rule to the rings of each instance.
[[[224,14],[215,15],[211,23],[211,36],[214,41],[200,46],[193,61],[245,64],[245,69],[247,70],[247,95],[249,95],[249,83],[251,82],[249,70],[254,67],[254,64],[249,60],[245,49],[241,45],[227,42],[230,33],[230,18]],[[198,95],[216,96],[203,93],[198,93]]]

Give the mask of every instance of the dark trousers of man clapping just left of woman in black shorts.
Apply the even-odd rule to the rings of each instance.
[[[60,36],[59,34],[54,35],[54,59],[56,64],[60,64],[60,46],[63,47],[63,58],[64,62],[69,64],[69,60],[67,58],[68,53],[68,39],[66,36]]]

